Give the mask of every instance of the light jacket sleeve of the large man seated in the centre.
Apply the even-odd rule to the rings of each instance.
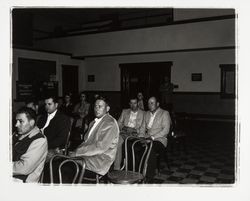
[[[114,139],[117,138],[119,128],[116,122],[111,122],[108,125],[103,126],[98,133],[98,139],[92,144],[82,143],[79,148],[76,149],[76,156],[94,156],[106,152],[114,143]]]

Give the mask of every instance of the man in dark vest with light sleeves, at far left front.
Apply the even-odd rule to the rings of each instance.
[[[13,177],[23,182],[38,182],[48,152],[46,137],[36,126],[36,113],[21,108],[16,114],[17,131],[12,136]]]

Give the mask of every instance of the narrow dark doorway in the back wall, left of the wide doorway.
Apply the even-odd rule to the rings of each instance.
[[[78,66],[62,65],[62,90],[63,95],[78,94]]]

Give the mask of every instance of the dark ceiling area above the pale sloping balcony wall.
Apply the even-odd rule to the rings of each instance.
[[[13,42],[152,27],[173,21],[172,8],[15,8]],[[26,39],[25,39],[26,38]]]

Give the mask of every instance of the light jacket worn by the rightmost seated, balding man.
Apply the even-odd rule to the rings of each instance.
[[[168,111],[158,108],[156,115],[150,129],[147,125],[150,120],[150,111],[147,111],[144,117],[143,125],[140,129],[140,137],[153,136],[155,141],[161,142],[165,147],[167,146],[167,135],[170,130],[171,118]]]

